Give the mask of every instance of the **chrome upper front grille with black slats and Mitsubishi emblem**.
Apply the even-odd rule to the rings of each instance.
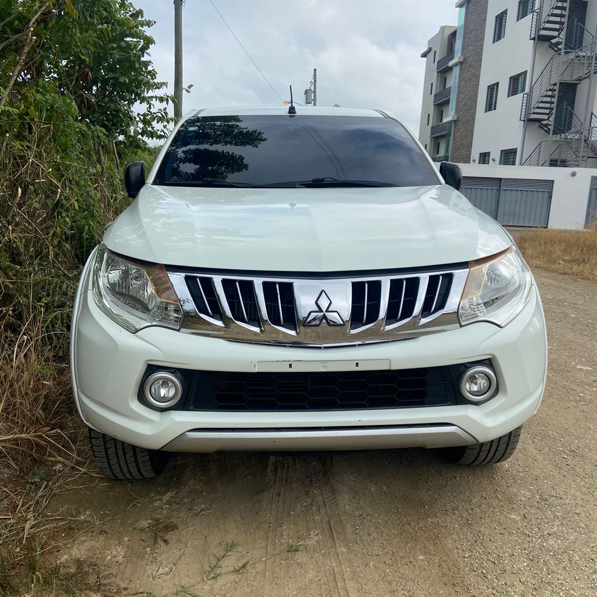
[[[398,340],[458,327],[468,270],[354,278],[275,278],[168,270],[183,332],[327,346]]]

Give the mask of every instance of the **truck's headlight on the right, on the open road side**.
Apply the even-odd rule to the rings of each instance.
[[[527,304],[531,288],[531,272],[515,246],[472,261],[458,307],[460,324],[490,321],[503,327]]]

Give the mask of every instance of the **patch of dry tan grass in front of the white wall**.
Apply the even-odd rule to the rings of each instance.
[[[531,267],[597,282],[597,225],[587,230],[533,229],[513,236]]]

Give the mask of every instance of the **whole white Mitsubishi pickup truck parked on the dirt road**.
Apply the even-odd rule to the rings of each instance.
[[[512,454],[546,377],[537,287],[392,115],[199,110],[125,181],[72,325],[105,475],[180,451]]]

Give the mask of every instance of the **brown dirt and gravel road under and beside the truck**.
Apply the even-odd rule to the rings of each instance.
[[[597,595],[597,285],[536,276],[549,383],[507,463],[232,453],[85,481],[54,504],[87,519],[56,553],[76,594]]]

